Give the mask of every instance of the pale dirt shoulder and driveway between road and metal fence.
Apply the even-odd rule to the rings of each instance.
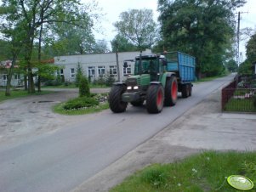
[[[151,163],[179,161],[202,150],[256,150],[255,124],[255,115],[222,113],[220,90],[215,91],[73,191],[108,191]]]

